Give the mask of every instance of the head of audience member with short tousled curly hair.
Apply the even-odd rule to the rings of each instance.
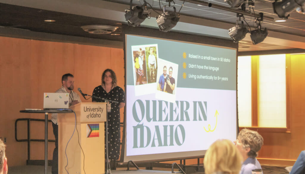
[[[242,129],[234,143],[246,160],[245,158],[248,157],[257,157],[257,152],[262,147],[264,139],[257,131]]]

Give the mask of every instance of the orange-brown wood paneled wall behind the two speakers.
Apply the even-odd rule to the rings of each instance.
[[[74,75],[74,91],[81,87],[84,93],[92,94],[94,87],[101,84],[106,68],[116,72],[118,86],[124,89],[123,49],[0,37],[0,137],[7,138],[9,166],[25,165],[27,160],[27,143],[14,138],[15,120],[44,119],[43,114],[25,114],[19,110],[42,109],[43,93],[61,87],[61,76],[65,73]],[[91,102],[82,97],[81,100]],[[121,121],[123,112],[121,109]],[[32,139],[44,139],[43,122],[33,122],[30,126]],[[20,122],[18,127],[18,138],[26,139],[26,122]],[[49,139],[54,139],[52,124],[48,130]],[[48,146],[48,159],[52,159],[54,142]],[[30,152],[31,159],[43,160],[44,142],[32,142]]]

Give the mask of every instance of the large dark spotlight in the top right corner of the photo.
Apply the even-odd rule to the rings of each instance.
[[[302,9],[305,0],[275,0],[272,2],[273,11],[282,19],[288,19],[290,12],[298,7]]]

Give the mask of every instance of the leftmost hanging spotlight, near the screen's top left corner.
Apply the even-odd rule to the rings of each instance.
[[[142,6],[134,5],[132,6],[132,0],[130,0],[130,9],[125,10],[125,20],[128,25],[140,26],[140,24],[148,17],[148,8],[146,1]]]

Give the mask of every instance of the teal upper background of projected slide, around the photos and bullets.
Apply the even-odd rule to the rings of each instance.
[[[196,42],[196,41],[194,41]],[[178,82],[177,87],[186,88],[201,88],[201,89],[221,89],[221,90],[236,90],[236,49],[229,48],[217,48],[213,46],[205,46],[199,44],[189,44],[179,41],[168,41],[162,39],[155,39],[149,37],[139,37],[126,35],[126,84],[134,85],[133,77],[133,56],[131,52],[131,46],[134,45],[147,45],[158,44],[157,54],[159,58],[176,63],[178,68]],[[186,58],[183,58],[183,53],[186,53]],[[216,58],[226,58],[230,62],[221,62],[214,60],[194,59],[189,58],[191,55],[211,56]],[[183,63],[186,63],[186,68],[183,68]],[[210,69],[197,69],[189,68],[189,64],[195,64],[199,66],[213,66],[219,67],[218,71],[212,71]],[[186,74],[186,78],[183,78],[183,74]],[[210,79],[189,78],[190,74],[213,76]],[[228,80],[218,80],[218,77],[225,77]]]

